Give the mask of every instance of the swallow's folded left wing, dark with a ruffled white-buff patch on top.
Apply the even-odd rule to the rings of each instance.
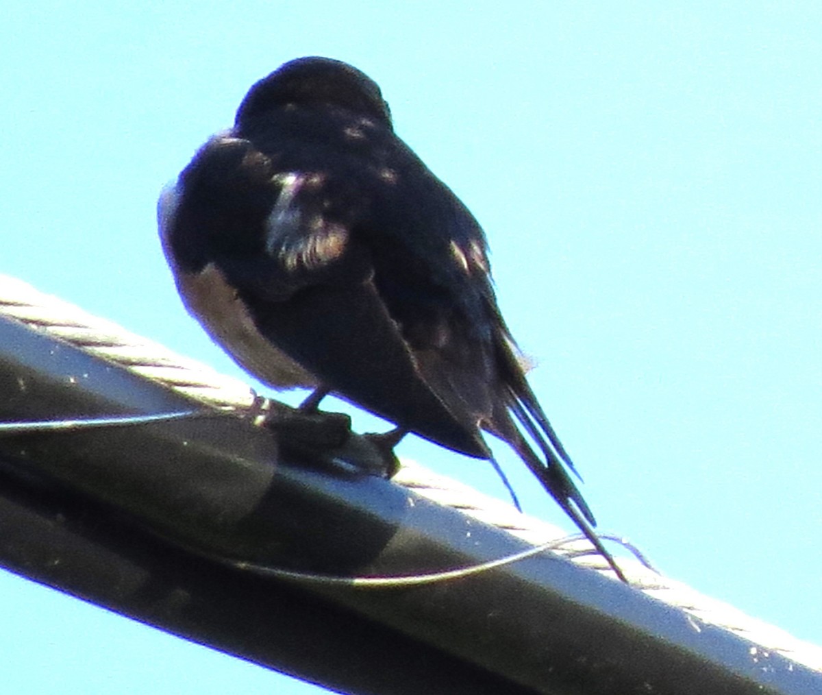
[[[324,214],[316,174],[277,174],[262,253],[219,253],[256,329],[330,391],[470,456],[487,456],[476,422],[427,384],[376,290],[369,248]]]

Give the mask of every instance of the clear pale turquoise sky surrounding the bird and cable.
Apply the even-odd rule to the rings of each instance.
[[[242,376],[178,300],[155,201],[312,54],[381,85],[486,229],[601,528],[822,642],[822,5],[6,3],[0,272]],[[482,462],[400,452],[504,494]],[[324,692],[7,572],[0,623],[18,695]]]

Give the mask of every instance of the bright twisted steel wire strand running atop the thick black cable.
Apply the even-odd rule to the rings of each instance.
[[[247,384],[230,378],[193,359],[181,357],[163,345],[95,317],[72,303],[35,290],[11,276],[0,275],[0,315],[16,319],[60,341],[160,382],[196,401],[220,410],[246,411],[256,395]],[[532,545],[552,545],[552,552],[570,561],[613,576],[586,540],[568,537],[565,531],[517,512],[508,503],[487,497],[467,485],[446,478],[412,461],[403,461],[395,483],[490,526],[496,526]],[[700,594],[681,582],[664,577],[639,559],[619,558],[630,585],[654,599],[685,611],[699,623],[710,623],[737,634],[755,645],[751,656],[776,651],[798,663],[822,670],[822,647],[801,642],[769,623],[731,605]]]

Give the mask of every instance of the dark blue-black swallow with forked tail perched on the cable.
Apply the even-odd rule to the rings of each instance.
[[[256,82],[164,192],[159,226],[189,312],[248,372],[468,456],[490,459],[496,435],[624,579],[526,381],[483,229],[363,72],[298,58]]]

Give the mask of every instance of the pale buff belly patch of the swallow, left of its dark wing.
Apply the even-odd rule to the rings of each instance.
[[[248,373],[274,388],[318,386],[311,373],[261,335],[246,304],[213,263],[176,280],[188,312]]]

